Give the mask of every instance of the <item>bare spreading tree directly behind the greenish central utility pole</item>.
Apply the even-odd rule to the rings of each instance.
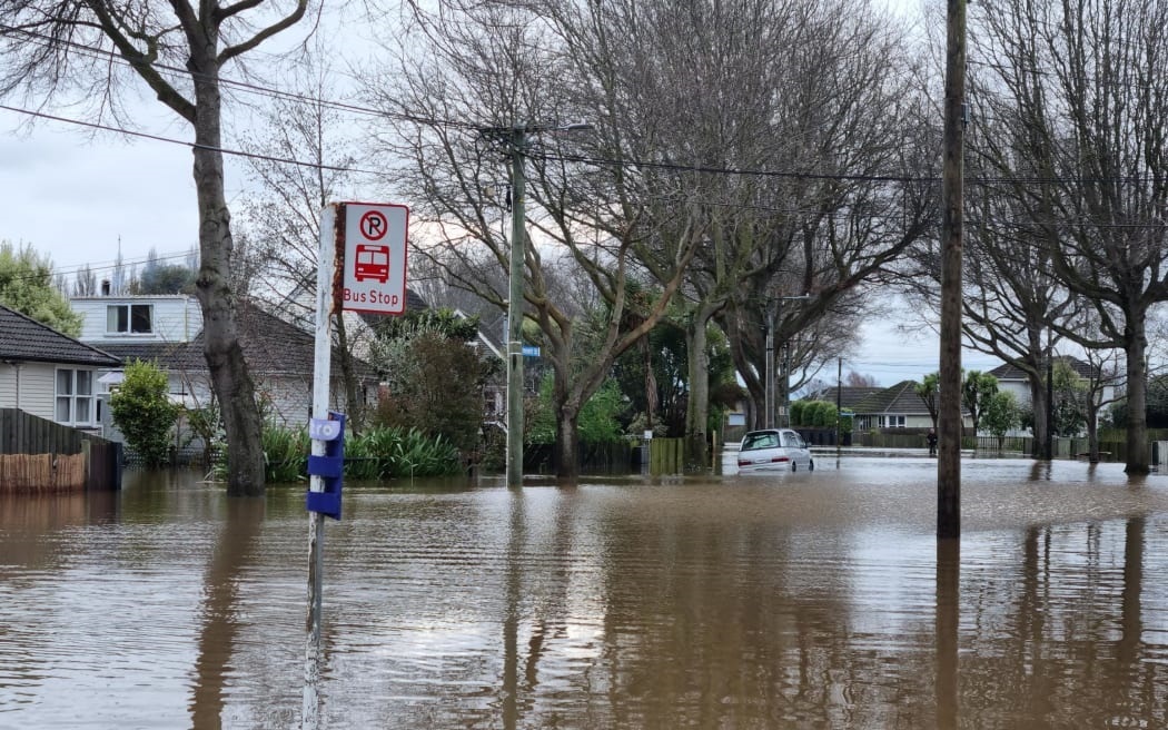
[[[592,23],[585,25],[592,33],[605,30],[593,18],[576,20]],[[531,203],[524,210],[524,319],[537,326],[542,356],[552,368],[557,471],[572,478],[579,410],[613,360],[660,318],[697,244],[696,227],[663,235],[642,224],[642,171],[623,164],[618,99],[579,91],[609,83],[606,68],[570,56],[548,18],[499,4],[449,4],[442,16],[419,13],[418,21],[425,48],[408,49],[397,68],[370,78],[371,96],[395,120],[378,139],[408,160],[395,175],[419,201],[417,248],[440,262],[456,286],[500,310],[508,292],[499,274],[507,271],[510,244],[502,211],[484,188],[506,179],[501,159],[512,157],[512,145],[524,145]],[[599,102],[607,106],[595,105]],[[563,121],[580,117],[593,121],[591,134],[557,134]],[[612,164],[578,161],[589,150]],[[631,281],[647,278],[638,251],[648,249],[667,252],[656,260],[668,262],[673,276],[658,277],[666,284],[656,296],[631,299],[638,291]],[[586,352],[576,331],[577,298],[557,287],[569,262],[604,304],[602,334],[590,339]]]

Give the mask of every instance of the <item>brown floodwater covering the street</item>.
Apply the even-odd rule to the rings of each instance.
[[[732,465],[726,468],[732,472]],[[300,487],[0,501],[0,728],[296,728]],[[1168,477],[936,463],[346,485],[325,728],[1162,728]]]

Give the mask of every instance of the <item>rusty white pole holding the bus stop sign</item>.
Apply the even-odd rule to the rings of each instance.
[[[341,269],[336,265],[336,241],[340,237],[338,222],[343,222],[343,210],[340,215],[338,206],[326,206],[320,216],[320,251],[317,269],[317,336],[313,350],[312,381],[312,417],[328,418],[329,366],[332,364],[332,317],[334,311],[333,279]],[[324,456],[326,443],[312,439],[312,453]],[[310,475],[308,491],[322,492],[324,479]],[[321,589],[324,578],[324,537],[325,515],[308,512],[308,616],[305,623],[305,660],[304,660],[304,710],[300,726],[304,730],[317,730],[320,725],[320,624],[321,624]]]

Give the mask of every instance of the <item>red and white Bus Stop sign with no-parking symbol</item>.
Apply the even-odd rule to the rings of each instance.
[[[345,210],[345,290],[341,308],[405,312],[405,236],[410,209],[391,203],[341,203]]]

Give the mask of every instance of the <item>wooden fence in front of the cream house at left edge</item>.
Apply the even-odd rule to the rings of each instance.
[[[119,444],[0,409],[0,494],[117,489],[120,464]]]

